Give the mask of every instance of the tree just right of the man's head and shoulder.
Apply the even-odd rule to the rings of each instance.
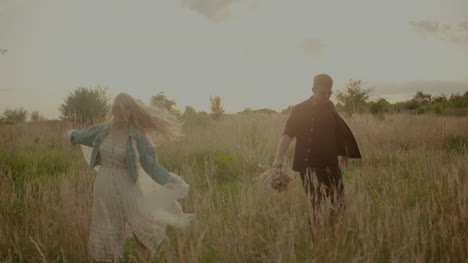
[[[349,114],[362,113],[369,99],[369,89],[363,89],[362,80],[349,79],[346,83],[345,91],[338,91],[336,98],[343,105],[345,111]]]

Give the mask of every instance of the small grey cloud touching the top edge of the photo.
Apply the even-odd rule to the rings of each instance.
[[[203,15],[205,18],[221,22],[231,16],[230,6],[238,0],[182,0],[182,7]]]

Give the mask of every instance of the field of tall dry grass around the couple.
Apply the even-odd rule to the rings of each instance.
[[[191,192],[197,214],[169,228],[156,258],[134,241],[126,262],[468,262],[468,117],[346,119],[363,160],[343,169],[346,210],[308,226],[296,175],[287,192],[252,183],[272,162],[285,115],[188,123],[157,149]],[[61,122],[0,126],[0,261],[90,262],[95,174]],[[291,158],[292,147],[288,151]]]

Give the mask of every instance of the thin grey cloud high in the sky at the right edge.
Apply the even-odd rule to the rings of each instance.
[[[409,24],[423,38],[440,39],[468,49],[468,21],[450,25],[439,21],[421,20],[410,21]]]

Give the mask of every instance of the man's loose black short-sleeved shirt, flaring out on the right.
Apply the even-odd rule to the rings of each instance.
[[[313,96],[296,105],[284,135],[296,137],[293,170],[338,165],[338,156],[361,158],[356,139],[331,101],[315,103]]]

